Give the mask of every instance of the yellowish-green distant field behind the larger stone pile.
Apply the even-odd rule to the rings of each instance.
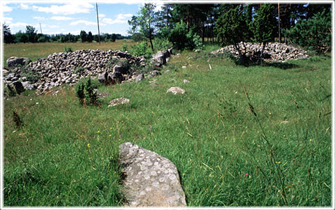
[[[72,50],[121,50],[124,40],[116,40],[114,43],[18,43],[3,45],[3,65],[9,57],[28,57],[32,61],[46,58],[54,52],[64,52],[65,47]],[[133,45],[133,40],[126,40],[127,45]]]

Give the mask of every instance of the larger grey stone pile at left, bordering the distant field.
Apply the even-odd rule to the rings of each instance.
[[[26,68],[14,67],[8,69],[4,76],[5,84],[11,84],[20,80],[25,89],[37,89],[43,93],[52,87],[58,87],[61,84],[75,84],[81,77],[98,77],[99,74],[108,71],[119,72],[112,75],[114,80],[128,80],[133,77],[132,70],[122,71],[122,67],[114,66],[110,70],[107,66],[110,59],[128,60],[128,63],[135,66],[145,66],[144,57],[133,57],[128,52],[103,51],[103,50],[77,50],[75,52],[59,52],[50,54],[46,59],[30,62]],[[16,58],[21,65],[24,60]],[[15,57],[7,60],[10,66],[15,64]],[[81,67],[81,68],[80,68]],[[125,74],[122,74],[125,73]],[[29,77],[23,75],[29,74]],[[121,75],[122,74],[122,75]],[[34,78],[34,80],[31,80]]]

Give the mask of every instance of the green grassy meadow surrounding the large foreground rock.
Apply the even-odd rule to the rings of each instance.
[[[100,106],[79,105],[73,87],[4,100],[4,205],[121,205],[123,142],[172,160],[190,207],[331,205],[329,56],[246,68],[182,52],[165,70],[99,87]],[[186,93],[166,93],[175,86]],[[131,103],[107,107],[119,97]]]

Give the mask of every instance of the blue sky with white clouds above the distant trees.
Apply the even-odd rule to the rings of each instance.
[[[128,20],[137,15],[144,1],[97,1],[101,33],[127,35]],[[2,1],[1,22],[11,33],[25,31],[31,25],[40,33],[72,33],[81,30],[98,33],[96,1]],[[157,3],[157,10],[161,3]]]

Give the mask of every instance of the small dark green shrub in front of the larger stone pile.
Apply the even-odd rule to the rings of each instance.
[[[95,85],[91,77],[83,78],[75,86],[75,96],[79,98],[81,105],[98,105],[98,96],[94,91]]]

